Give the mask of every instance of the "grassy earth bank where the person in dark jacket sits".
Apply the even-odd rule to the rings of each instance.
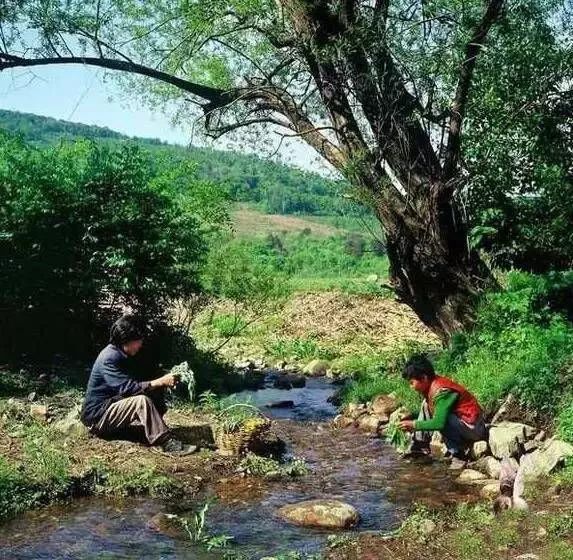
[[[37,390],[34,376],[6,367],[0,375],[0,521],[81,496],[179,499],[236,467],[236,461],[208,450],[177,458],[137,443],[91,437],[77,422],[62,427],[81,404],[82,390],[54,380],[30,403],[25,395]],[[188,408],[175,407],[167,416],[183,430],[206,420]]]

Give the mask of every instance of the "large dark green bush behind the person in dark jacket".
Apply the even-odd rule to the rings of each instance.
[[[3,349],[91,353],[123,307],[162,317],[196,291],[221,218],[188,172],[134,146],[0,137]]]

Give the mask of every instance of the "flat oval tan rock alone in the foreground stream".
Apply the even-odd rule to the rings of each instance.
[[[348,529],[354,527],[360,516],[350,504],[338,500],[309,500],[282,507],[279,516],[304,527]]]

